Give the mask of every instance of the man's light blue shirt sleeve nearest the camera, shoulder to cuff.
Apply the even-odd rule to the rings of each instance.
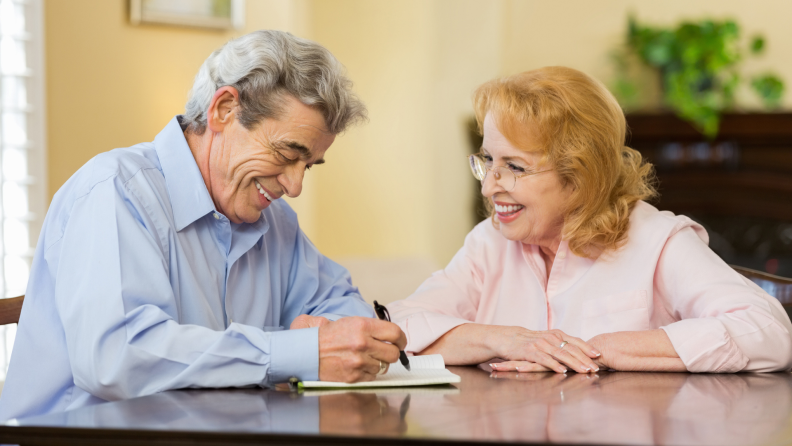
[[[62,238],[55,301],[75,384],[105,400],[188,387],[316,379],[318,330],[224,331],[178,323],[167,240],[118,178],[77,199]],[[295,349],[294,346],[299,346]],[[274,355],[291,364],[276,367]],[[304,374],[304,376],[300,376]]]

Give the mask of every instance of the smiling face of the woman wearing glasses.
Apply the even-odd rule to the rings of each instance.
[[[498,130],[492,115],[484,119],[482,152],[488,168],[504,166],[515,175],[552,169],[540,165],[542,147],[532,133],[526,135],[526,149],[520,150]],[[495,180],[492,172],[481,185],[481,193],[492,200],[500,232],[509,240],[556,249],[561,242],[562,210],[571,186],[561,183],[558,173],[549,170],[517,179],[511,191]]]

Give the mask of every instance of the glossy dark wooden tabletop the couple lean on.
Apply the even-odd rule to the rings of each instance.
[[[20,444],[792,444],[792,374],[490,373],[388,390],[178,390],[0,426]],[[376,440],[375,440],[376,439]]]

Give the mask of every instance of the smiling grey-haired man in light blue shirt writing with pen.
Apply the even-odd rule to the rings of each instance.
[[[0,419],[185,387],[366,381],[395,362],[404,334],[370,318],[279,200],[364,118],[350,86],[321,46],[254,32],[209,56],[153,143],[69,179],[36,248]]]

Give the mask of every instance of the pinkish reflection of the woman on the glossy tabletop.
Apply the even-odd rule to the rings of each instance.
[[[442,408],[452,414],[432,429],[437,436],[554,443],[736,445],[789,434],[789,373],[494,373],[485,380],[480,371],[462,372],[458,395],[434,408],[416,405],[408,421],[436,419]]]

